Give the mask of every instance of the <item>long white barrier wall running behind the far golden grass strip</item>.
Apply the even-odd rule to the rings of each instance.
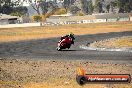
[[[103,23],[103,22],[117,22],[117,21],[132,21],[130,18],[113,18],[113,19],[93,19],[93,20],[80,20],[80,21],[60,21],[60,22],[45,22],[45,23],[23,23],[23,24],[6,24],[0,25],[0,28],[14,28],[14,27],[34,27],[34,26],[54,26],[65,24],[80,24],[80,23]]]

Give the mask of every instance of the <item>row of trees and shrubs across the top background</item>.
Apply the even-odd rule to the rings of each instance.
[[[113,12],[115,8],[119,9],[119,13],[132,11],[132,0],[115,0],[108,4],[105,3],[105,0],[96,0],[94,5],[92,0],[78,0],[80,7],[75,4],[77,0],[64,0],[62,6],[59,6],[56,0],[48,2],[46,0],[25,1],[29,2],[38,15],[65,14],[67,12],[74,15],[88,15]],[[24,16],[28,14],[28,9],[22,6],[21,0],[0,0],[0,13]]]

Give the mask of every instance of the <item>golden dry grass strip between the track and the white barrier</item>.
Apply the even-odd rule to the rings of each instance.
[[[70,32],[75,35],[132,31],[132,22],[74,24],[48,27],[0,29],[0,42],[58,37]]]

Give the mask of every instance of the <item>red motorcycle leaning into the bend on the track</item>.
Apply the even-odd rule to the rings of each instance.
[[[73,40],[71,37],[66,37],[58,42],[58,47],[56,49],[58,51],[60,51],[62,49],[66,49],[66,48],[69,49],[72,45],[72,42],[73,42]]]

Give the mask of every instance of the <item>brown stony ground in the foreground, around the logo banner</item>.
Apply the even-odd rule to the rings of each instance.
[[[126,63],[0,58],[0,88],[132,88],[132,83],[80,86],[75,80],[78,67],[87,74],[132,75],[132,64]]]

